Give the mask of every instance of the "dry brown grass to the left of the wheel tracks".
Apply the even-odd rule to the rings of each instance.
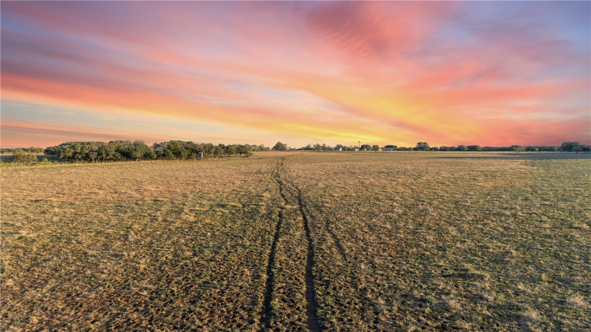
[[[256,327],[274,162],[2,170],[2,330]]]

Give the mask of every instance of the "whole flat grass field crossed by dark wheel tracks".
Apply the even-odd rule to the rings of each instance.
[[[1,170],[1,330],[589,331],[591,159]]]

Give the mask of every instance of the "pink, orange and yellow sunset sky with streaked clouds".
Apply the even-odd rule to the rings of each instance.
[[[591,143],[591,2],[1,2],[1,146]]]

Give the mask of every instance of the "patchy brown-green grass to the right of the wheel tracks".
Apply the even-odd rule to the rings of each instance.
[[[585,331],[591,160],[335,153],[285,164],[305,193],[328,330]],[[573,226],[574,225],[574,226]],[[530,310],[530,311],[526,311]]]

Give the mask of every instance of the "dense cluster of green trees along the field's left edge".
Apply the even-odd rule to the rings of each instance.
[[[46,155],[72,162],[120,162],[125,160],[186,160],[203,157],[249,157],[253,150],[265,150],[264,146],[250,144],[193,143],[181,140],[154,143],[148,146],[141,140],[115,140],[105,142],[67,142],[50,146]]]

